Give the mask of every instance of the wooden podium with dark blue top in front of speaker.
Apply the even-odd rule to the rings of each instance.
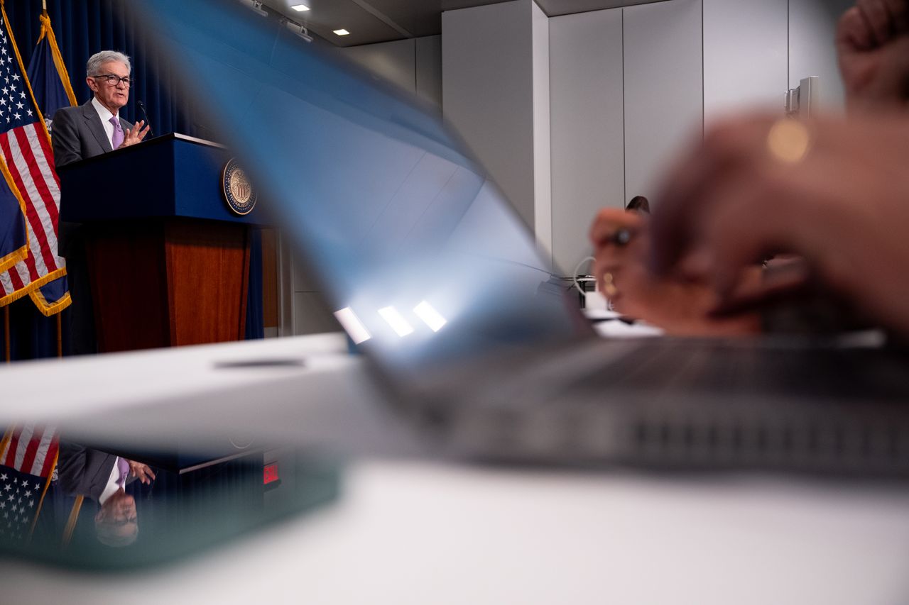
[[[60,218],[83,223],[99,352],[244,338],[259,214],[225,202],[229,159],[166,134],[59,171]]]

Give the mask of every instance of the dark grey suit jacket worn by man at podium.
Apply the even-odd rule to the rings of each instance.
[[[133,124],[121,117],[120,126],[126,132]],[[51,121],[51,134],[57,168],[112,151],[101,116],[95,111],[91,99],[77,107],[57,110]]]

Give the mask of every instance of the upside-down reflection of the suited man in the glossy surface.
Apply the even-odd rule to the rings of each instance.
[[[115,547],[135,541],[139,535],[135,499],[124,488],[136,479],[151,482],[155,479],[151,469],[140,462],[60,441],[57,476],[65,494],[85,496],[100,505],[95,514],[99,541]]]

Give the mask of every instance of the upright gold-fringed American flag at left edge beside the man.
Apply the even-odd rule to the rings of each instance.
[[[0,155],[25,201],[28,255],[0,273],[0,306],[66,273],[57,256],[60,181],[44,116],[2,9],[0,19]]]

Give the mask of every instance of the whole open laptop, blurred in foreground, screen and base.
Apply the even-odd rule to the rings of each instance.
[[[455,454],[496,461],[904,475],[902,352],[594,336],[434,112],[224,0],[147,0],[376,383]]]

